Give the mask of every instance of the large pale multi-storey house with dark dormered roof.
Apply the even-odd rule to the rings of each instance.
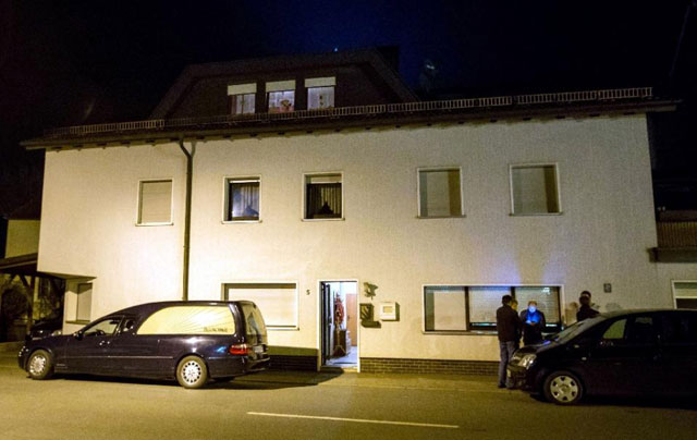
[[[148,121],[25,143],[47,151],[38,269],[66,280],[65,331],[248,298],[278,365],[490,371],[503,294],[554,331],[580,291],[672,307],[664,278],[697,279],[649,252],[646,113],[672,107],[648,88],[416,102],[375,51],[193,66]]]

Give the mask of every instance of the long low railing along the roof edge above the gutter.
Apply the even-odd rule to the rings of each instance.
[[[568,105],[574,102],[607,102],[653,97],[651,87],[617,88],[604,90],[565,91],[557,94],[498,96],[486,98],[467,98],[439,101],[418,101],[404,103],[389,103],[376,106],[337,107],[318,110],[297,110],[288,113],[255,113],[241,115],[217,115],[184,119],[156,119],[146,121],[117,122],[108,124],[77,125],[50,129],[46,136],[85,136],[105,133],[127,133],[140,131],[162,131],[168,129],[206,127],[206,126],[237,126],[272,121],[302,121],[307,119],[337,119],[351,117],[400,115],[407,113],[443,112],[467,109],[490,109],[504,107],[526,107],[540,105]]]

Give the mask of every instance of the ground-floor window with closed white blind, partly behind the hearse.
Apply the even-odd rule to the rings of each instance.
[[[268,329],[297,328],[297,285],[295,283],[229,283],[224,301],[252,301]]]

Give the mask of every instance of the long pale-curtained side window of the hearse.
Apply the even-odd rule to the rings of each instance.
[[[154,313],[137,334],[234,334],[228,306],[174,306]]]

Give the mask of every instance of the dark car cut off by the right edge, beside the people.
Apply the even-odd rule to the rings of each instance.
[[[558,404],[586,394],[697,396],[697,310],[598,315],[538,345],[508,367],[516,388]]]

